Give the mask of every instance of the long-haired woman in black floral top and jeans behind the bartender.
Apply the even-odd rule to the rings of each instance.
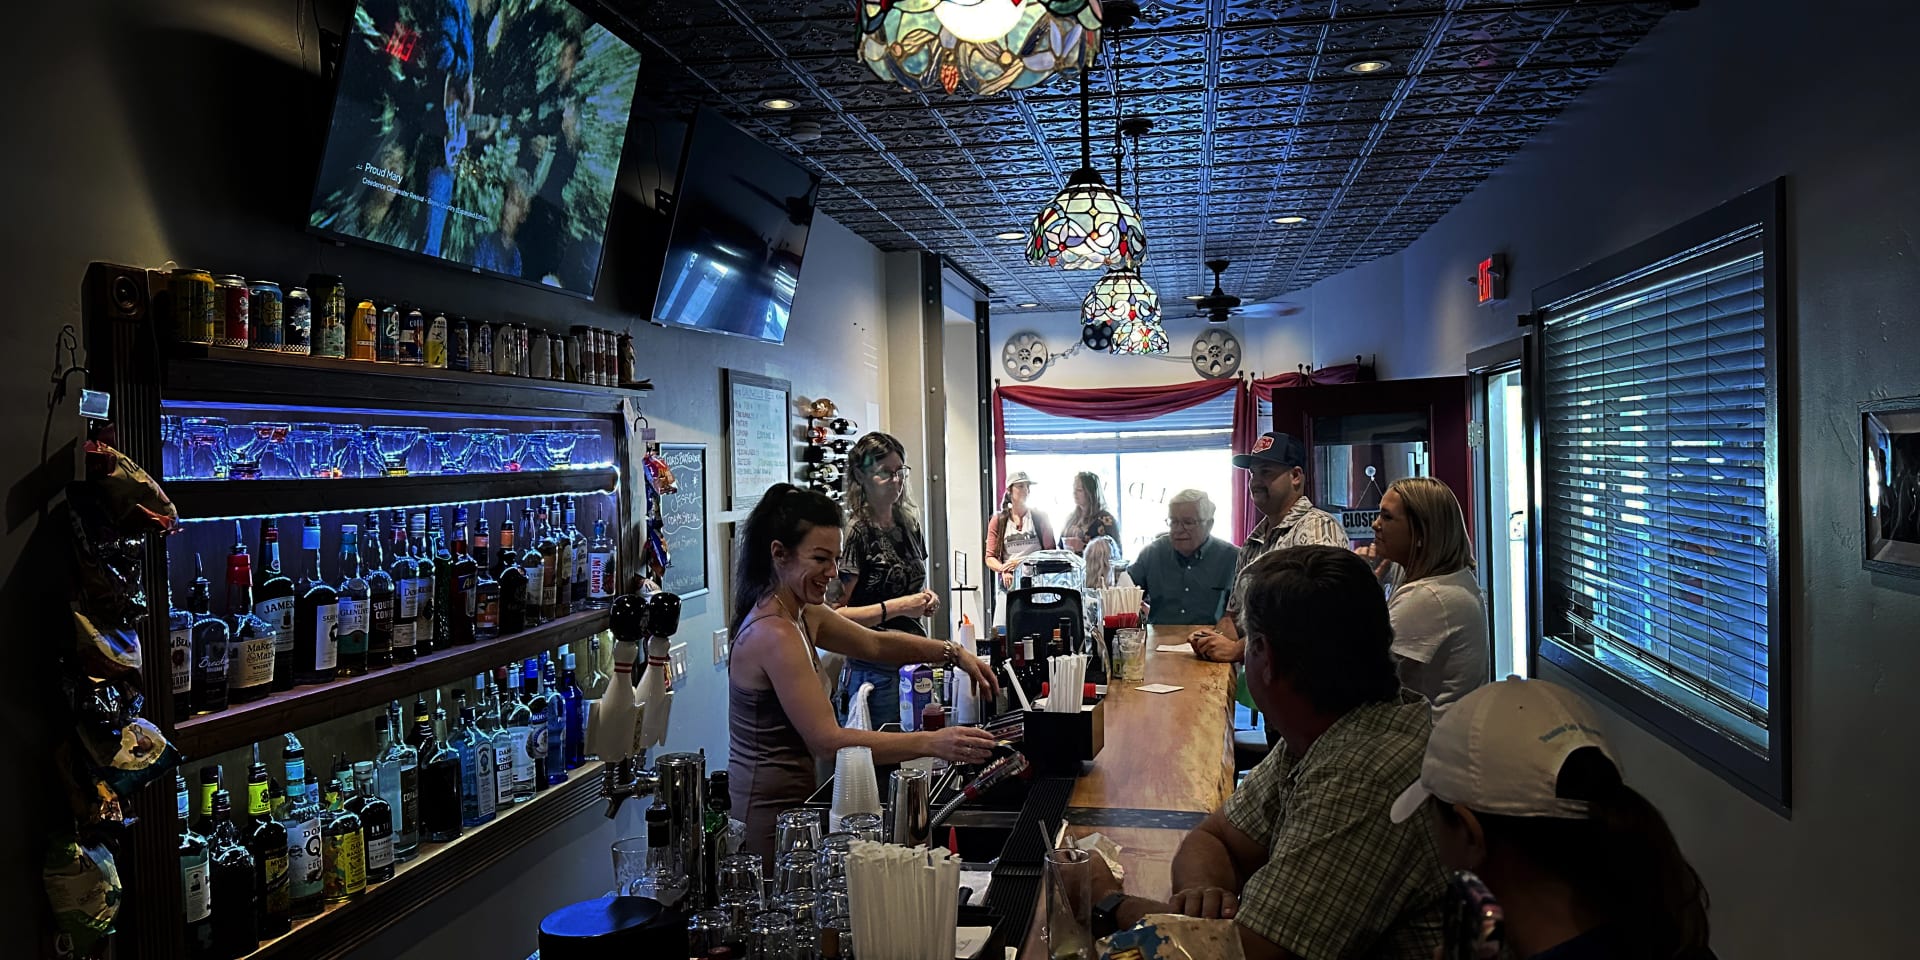
[[[927,543],[906,495],[906,447],[889,434],[872,432],[847,453],[847,543],[841,553],[841,616],[874,630],[927,636],[920,622],[939,611],[927,589]],[[874,726],[900,716],[897,664],[847,660],[841,720],[860,684],[874,684],[868,710]]]

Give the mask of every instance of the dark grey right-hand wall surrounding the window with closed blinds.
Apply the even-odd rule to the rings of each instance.
[[[1788,177],[1791,818],[1624,716],[1607,724],[1701,870],[1728,960],[1912,954],[1920,589],[1860,570],[1855,405],[1920,394],[1920,81],[1910,58],[1876,54],[1914,36],[1910,4],[1672,13],[1419,242],[1304,292],[1319,361],[1379,351],[1390,376],[1459,374],[1517,336],[1536,286]],[[1513,296],[1475,307],[1465,276],[1494,252]]]

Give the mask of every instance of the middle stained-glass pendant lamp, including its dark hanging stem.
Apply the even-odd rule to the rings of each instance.
[[[1146,227],[1092,169],[1087,73],[1081,71],[1081,169],[1027,227],[1027,263],[1068,271],[1137,269],[1146,259]]]

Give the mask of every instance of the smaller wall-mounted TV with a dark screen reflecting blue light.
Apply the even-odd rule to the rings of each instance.
[[[703,109],[680,159],[653,323],[780,344],[820,179]]]

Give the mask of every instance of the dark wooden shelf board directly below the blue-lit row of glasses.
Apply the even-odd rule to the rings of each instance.
[[[620,472],[371,476],[340,480],[167,480],[182,520],[240,520],[307,513],[384,511],[495,499],[612,493]]]

